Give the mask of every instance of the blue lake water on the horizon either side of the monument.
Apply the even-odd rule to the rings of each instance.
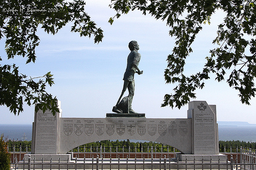
[[[14,140],[32,140],[31,125],[0,125],[0,134]],[[256,142],[256,125],[219,126],[219,140]]]

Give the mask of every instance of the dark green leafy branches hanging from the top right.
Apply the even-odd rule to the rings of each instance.
[[[117,14],[130,10],[140,10],[144,15],[151,14],[156,19],[166,21],[170,27],[169,35],[176,39],[172,54],[167,57],[164,72],[166,83],[177,83],[173,94],[164,96],[162,106],[178,107],[196,98],[195,90],[204,87],[204,80],[215,75],[217,81],[226,80],[228,85],[239,91],[242,103],[249,105],[255,96],[254,79],[256,76],[256,4],[251,0],[112,0],[110,5]],[[185,59],[193,52],[191,44],[202,25],[210,23],[211,16],[217,11],[225,13],[224,22],[219,25],[217,37],[212,43],[218,47],[210,50],[205,65],[195,75],[183,73]],[[230,70],[227,75],[226,71]]]

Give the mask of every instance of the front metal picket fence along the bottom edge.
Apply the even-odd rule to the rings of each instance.
[[[44,159],[40,161],[35,161],[28,158],[28,162],[20,162],[12,164],[13,169],[17,169],[17,166],[23,166],[23,169],[253,169],[255,170],[255,163],[234,163],[233,158],[226,162],[212,162],[211,159],[205,161],[183,161],[180,162],[179,159],[175,160],[172,158],[167,159],[104,159],[97,156],[96,159],[75,159],[74,162],[67,160],[66,162],[58,160],[57,162],[50,161],[45,162]]]

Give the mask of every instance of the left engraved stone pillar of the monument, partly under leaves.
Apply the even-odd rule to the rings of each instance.
[[[58,154],[59,148],[59,118],[62,111],[60,101],[56,101],[59,113],[55,115],[50,111],[45,113],[38,110],[34,115],[32,130],[32,154]]]

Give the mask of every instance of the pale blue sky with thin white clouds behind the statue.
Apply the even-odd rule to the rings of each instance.
[[[156,20],[140,11],[131,11],[108,23],[116,13],[109,8],[110,1],[86,1],[86,12],[104,32],[102,42],[94,44],[93,37],[80,37],[72,33],[71,23],[55,35],[49,35],[38,28],[40,44],[36,47],[36,62],[26,63],[26,58],[15,57],[7,60],[5,41],[0,41],[2,64],[19,66],[19,71],[27,76],[43,76],[51,71],[54,85],[47,91],[61,102],[62,117],[99,117],[112,113],[123,86],[123,74],[128,44],[136,40],[140,45],[139,64],[142,75],[135,76],[135,95],[132,108],[145,113],[146,118],[187,118],[188,105],[181,109],[161,107],[166,93],[173,93],[174,84],[166,84],[164,69],[167,56],[172,53],[175,38],[170,37],[166,22]],[[212,40],[216,37],[218,25],[223,21],[223,13],[218,11],[211,18],[211,24],[204,25],[192,45],[193,53],[186,60],[184,74],[201,71],[209,50],[216,47]],[[123,96],[128,95],[126,91]],[[256,124],[256,99],[251,105],[240,102],[238,91],[224,82],[215,81],[214,75],[205,81],[203,89],[196,90],[196,99],[217,106],[218,121],[236,121]],[[32,124],[34,106],[24,105],[24,112],[18,116],[9,108],[0,106],[0,124]]]

